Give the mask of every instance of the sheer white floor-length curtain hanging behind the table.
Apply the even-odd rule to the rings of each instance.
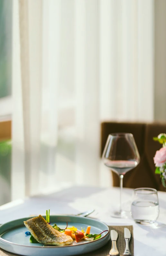
[[[101,121],[153,120],[153,5],[14,1],[13,199],[110,184]]]

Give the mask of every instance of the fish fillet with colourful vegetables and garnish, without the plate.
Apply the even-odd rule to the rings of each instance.
[[[81,231],[76,227],[68,227],[68,222],[66,222],[66,228],[60,228],[57,224],[51,226],[50,222],[50,210],[46,211],[46,220],[39,215],[38,217],[33,217],[24,221],[26,228],[30,231],[26,231],[25,235],[31,235],[30,243],[42,243],[43,245],[55,245],[55,246],[65,246],[69,245],[76,240],[78,243],[82,239],[86,241],[94,241],[101,238],[104,232],[109,230],[104,230],[100,234],[90,234],[91,226],[88,226],[86,231],[81,228]]]

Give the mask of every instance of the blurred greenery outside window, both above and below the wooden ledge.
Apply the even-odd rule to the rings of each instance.
[[[12,0],[0,0],[0,98],[12,88]],[[0,205],[11,200],[11,141],[0,142]]]

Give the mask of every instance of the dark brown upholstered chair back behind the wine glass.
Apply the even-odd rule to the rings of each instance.
[[[165,191],[160,176],[155,174],[153,157],[161,144],[153,141],[153,137],[166,133],[166,123],[112,123],[101,124],[101,155],[110,133],[133,133],[141,157],[140,164],[124,176],[124,187],[152,187]],[[119,177],[112,172],[113,186],[119,186]]]

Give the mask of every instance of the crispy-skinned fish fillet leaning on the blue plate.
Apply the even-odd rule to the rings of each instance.
[[[73,241],[70,236],[52,228],[41,215],[24,221],[24,224],[39,243],[63,246]]]

